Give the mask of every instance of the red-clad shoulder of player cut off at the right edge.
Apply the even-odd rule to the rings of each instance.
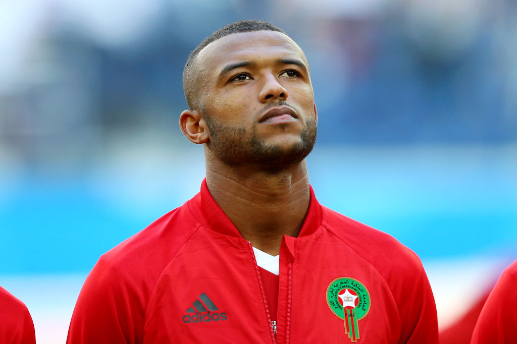
[[[486,299],[470,343],[517,343],[517,260],[503,272]]]

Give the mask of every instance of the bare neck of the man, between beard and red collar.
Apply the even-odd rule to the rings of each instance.
[[[275,173],[208,163],[208,190],[241,236],[278,255],[283,235],[298,236],[309,209],[305,160]]]

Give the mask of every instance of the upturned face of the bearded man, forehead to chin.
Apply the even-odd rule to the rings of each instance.
[[[282,168],[309,154],[316,113],[299,46],[273,31],[238,33],[197,56],[208,148],[228,165]]]

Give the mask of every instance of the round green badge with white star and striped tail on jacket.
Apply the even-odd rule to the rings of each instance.
[[[368,289],[357,279],[339,277],[329,284],[326,296],[330,310],[344,320],[348,338],[356,342],[359,339],[358,321],[370,310]]]

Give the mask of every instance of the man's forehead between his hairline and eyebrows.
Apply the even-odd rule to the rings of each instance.
[[[219,62],[227,62],[240,55],[259,55],[262,49],[278,51],[297,56],[307,64],[307,59],[298,44],[280,32],[261,30],[230,34],[211,42],[197,55],[197,62],[215,67]]]

